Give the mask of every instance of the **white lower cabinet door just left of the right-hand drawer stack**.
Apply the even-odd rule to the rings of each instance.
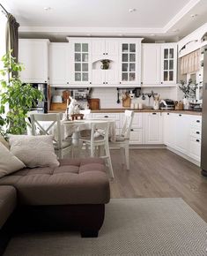
[[[174,114],[175,125],[175,149],[183,154],[189,153],[190,116]]]

